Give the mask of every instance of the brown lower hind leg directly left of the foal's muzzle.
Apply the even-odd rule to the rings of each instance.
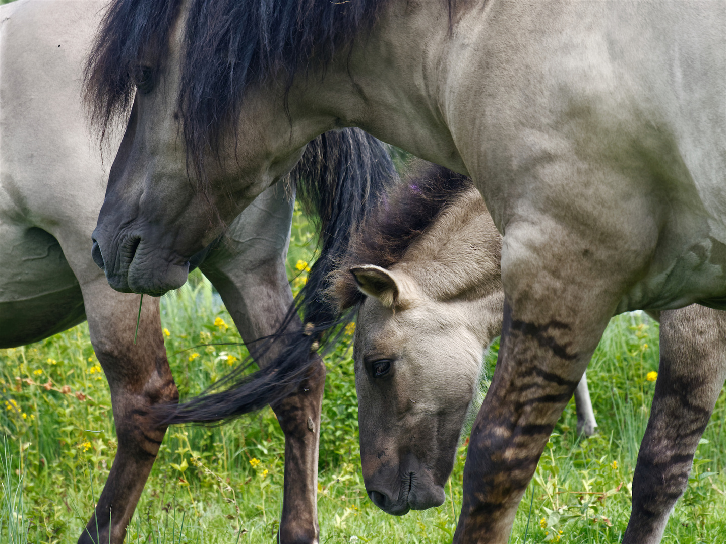
[[[272,406],[285,433],[285,491],[279,542],[317,543],[317,466],[325,363],[317,354],[301,388]]]

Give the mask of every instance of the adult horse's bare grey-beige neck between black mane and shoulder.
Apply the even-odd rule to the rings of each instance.
[[[467,168],[446,125],[442,57],[449,55],[448,2],[381,2],[370,32],[343,48],[311,77],[296,78],[293,118],[357,126],[458,173]],[[422,47],[422,44],[424,46]],[[294,103],[293,103],[294,102]]]

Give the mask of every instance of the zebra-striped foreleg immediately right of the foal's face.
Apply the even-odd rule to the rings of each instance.
[[[509,302],[504,316],[492,384],[471,430],[455,543],[507,542],[544,445],[608,322],[595,331],[537,323]]]

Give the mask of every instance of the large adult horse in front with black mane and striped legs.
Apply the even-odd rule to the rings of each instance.
[[[722,1],[113,0],[86,99],[130,116],[94,254],[115,289],[178,287],[332,128],[469,176],[505,303],[454,540],[507,540],[609,319],[643,308],[665,350],[624,543],[657,543],[726,376],[672,357],[696,340],[678,308],[726,308],[724,28]],[[269,368],[236,395],[302,376]]]

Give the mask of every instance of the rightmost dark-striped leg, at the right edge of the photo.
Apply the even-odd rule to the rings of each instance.
[[[699,305],[661,313],[661,362],[633,477],[623,544],[656,544],[688,486],[698,440],[726,378],[726,314]]]

